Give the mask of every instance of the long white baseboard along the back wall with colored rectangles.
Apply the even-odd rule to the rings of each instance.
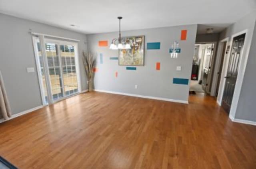
[[[177,103],[188,104],[188,101],[175,100],[175,99],[170,99],[170,98],[162,98],[162,97],[154,97],[154,96],[144,96],[144,95],[138,95],[138,94],[130,94],[130,93],[122,93],[122,92],[112,92],[112,91],[108,91],[108,90],[98,90],[98,89],[96,89],[94,91],[96,91],[96,92],[104,92],[104,93],[111,93],[111,94],[120,94],[120,95],[125,95],[125,96],[150,98],[150,99],[154,99],[154,100],[164,100],[164,101],[168,101],[168,102],[177,102]]]

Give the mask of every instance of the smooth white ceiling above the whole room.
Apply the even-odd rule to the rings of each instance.
[[[255,8],[256,0],[0,0],[0,13],[83,33],[118,31],[117,16],[122,30],[227,26]]]

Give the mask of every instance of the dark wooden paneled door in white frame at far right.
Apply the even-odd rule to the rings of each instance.
[[[238,66],[241,58],[240,54],[242,53],[242,49],[244,46],[244,38],[245,38],[245,33],[237,37],[234,37],[233,43],[232,43],[232,49],[231,49],[232,51],[231,51],[230,59],[228,63],[228,72],[225,77],[226,83],[224,87],[224,93],[223,93],[222,104],[221,104],[221,106],[224,108],[224,110],[227,113],[230,112],[232,98],[234,95],[236,78],[238,74]]]

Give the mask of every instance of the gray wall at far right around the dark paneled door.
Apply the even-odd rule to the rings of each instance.
[[[250,14],[247,14],[238,22],[232,24],[230,27],[225,29],[220,33],[220,40],[225,39],[226,37],[230,38],[230,41],[232,41],[231,37],[235,33],[239,33],[240,31],[244,31],[247,29],[246,33],[246,42],[244,43],[244,54],[243,58],[246,55],[246,52],[249,51],[248,55],[248,61],[246,65],[246,71],[244,74],[244,79],[242,82],[242,88],[239,96],[239,100],[237,103],[236,113],[234,117],[236,119],[242,119],[242,120],[250,120],[256,122],[256,112],[255,112],[255,84],[256,84],[256,57],[255,57],[255,41],[256,41],[256,35],[255,35],[255,21],[256,21],[256,10],[253,12],[250,12]],[[252,37],[254,35],[254,37]],[[235,96],[234,96],[235,97]]]

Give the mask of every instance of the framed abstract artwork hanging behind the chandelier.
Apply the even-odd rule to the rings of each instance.
[[[120,49],[118,63],[120,66],[144,66],[145,36],[123,37],[130,43],[131,49]]]

